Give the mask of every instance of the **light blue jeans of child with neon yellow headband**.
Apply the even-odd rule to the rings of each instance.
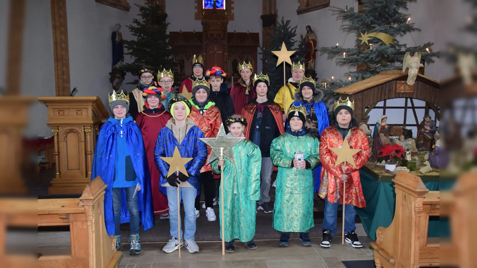
[[[182,201],[184,204],[184,212],[186,215],[184,226],[185,231],[182,232],[181,222],[181,237],[186,240],[194,239],[196,234],[196,196],[197,189],[194,187],[179,187]],[[167,203],[169,204],[169,224],[171,229],[171,237],[179,238],[179,230],[177,227],[177,187],[166,187]]]

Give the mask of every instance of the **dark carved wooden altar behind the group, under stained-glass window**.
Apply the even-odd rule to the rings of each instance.
[[[202,21],[202,31],[178,31],[169,33],[171,47],[177,52],[173,55],[177,62],[178,81],[192,75],[192,58],[202,55],[206,69],[221,67],[227,76],[234,74],[238,63],[251,62],[257,70],[257,49],[260,45],[257,32],[227,32],[228,21],[234,20],[233,0],[226,1],[225,9],[203,9],[202,1],[196,0],[196,20]],[[205,70],[204,70],[205,71]]]

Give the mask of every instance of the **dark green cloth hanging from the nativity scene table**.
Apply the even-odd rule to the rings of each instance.
[[[393,182],[379,181],[364,170],[360,170],[360,177],[367,206],[364,208],[356,207],[356,214],[361,218],[364,231],[368,237],[376,240],[378,227],[388,227],[393,222],[396,193],[394,192]],[[438,180],[423,182],[429,191],[439,191]],[[439,222],[439,217],[430,218],[427,237],[439,237],[441,233],[439,227],[445,229]]]

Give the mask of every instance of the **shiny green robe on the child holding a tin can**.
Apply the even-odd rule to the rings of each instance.
[[[307,232],[313,224],[313,171],[320,164],[320,141],[311,134],[281,134],[270,146],[273,165],[278,166],[273,228],[280,232]],[[310,169],[290,168],[295,152],[303,152]]]

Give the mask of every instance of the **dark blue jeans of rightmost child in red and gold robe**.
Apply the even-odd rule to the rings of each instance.
[[[338,215],[338,206],[340,206],[340,200],[332,204],[325,197],[325,212],[323,218],[322,230],[331,230],[331,235],[334,236],[334,229],[336,229],[336,216]],[[344,205],[344,233],[354,231],[356,226],[354,225],[354,218],[356,217],[356,210],[353,205]]]

